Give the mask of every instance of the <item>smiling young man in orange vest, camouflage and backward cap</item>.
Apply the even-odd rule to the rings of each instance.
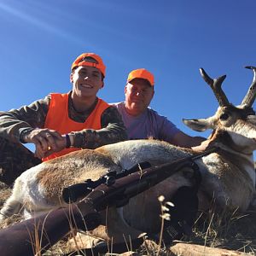
[[[99,55],[84,53],[71,67],[73,90],[49,94],[28,106],[0,113],[0,168],[13,163],[15,150],[9,152],[9,148],[15,148],[12,143],[34,143],[35,156],[49,160],[80,148],[127,139],[117,109],[96,96],[104,85],[105,71]]]

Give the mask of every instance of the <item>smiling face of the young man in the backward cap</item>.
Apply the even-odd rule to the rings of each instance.
[[[70,76],[73,93],[79,97],[96,96],[103,86],[102,73],[96,67],[80,66]]]

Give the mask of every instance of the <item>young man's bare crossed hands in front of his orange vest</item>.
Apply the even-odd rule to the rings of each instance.
[[[43,158],[66,147],[66,138],[54,130],[34,129],[24,137],[26,143],[34,143],[35,156]]]

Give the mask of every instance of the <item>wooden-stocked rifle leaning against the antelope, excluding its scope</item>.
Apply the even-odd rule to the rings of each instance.
[[[128,176],[119,177],[111,183],[101,183],[78,204],[60,208],[13,224],[0,231],[0,252],[5,255],[35,255],[44,253],[56,241],[66,236],[73,227],[94,230],[102,223],[100,213],[107,207],[122,207],[129,199],[189,167],[199,175],[194,160],[216,151],[209,149],[201,154],[184,157],[160,166],[152,166]],[[102,178],[100,178],[103,180]],[[85,189],[86,193],[90,189]]]

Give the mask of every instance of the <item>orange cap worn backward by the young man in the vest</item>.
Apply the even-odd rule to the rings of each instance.
[[[86,61],[86,57],[91,57],[95,59],[98,63],[93,63]],[[79,55],[75,61],[73,61],[73,64],[71,66],[71,70],[73,70],[74,67],[79,66],[89,66],[89,67],[96,67],[102,72],[102,75],[105,77],[106,73],[106,66],[104,65],[102,58],[99,55],[96,55],[95,53],[83,53],[82,55]]]

